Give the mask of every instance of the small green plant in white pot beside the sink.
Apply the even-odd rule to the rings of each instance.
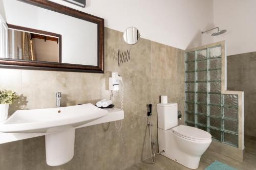
[[[11,90],[0,90],[0,122],[8,117],[9,104],[18,99],[18,95]]]

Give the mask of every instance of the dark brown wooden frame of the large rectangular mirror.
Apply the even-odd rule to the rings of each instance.
[[[69,15],[75,18],[86,20],[96,23],[98,25],[98,64],[80,65],[80,64],[67,64],[46,61],[28,61],[18,59],[0,58],[0,66],[7,68],[20,68],[20,69],[39,69],[39,70],[55,70],[55,71],[75,71],[75,72],[95,72],[104,73],[104,19],[93,16],[60,4],[56,4],[47,0],[18,0],[30,5],[45,8],[54,12]],[[12,24],[12,23],[8,23]]]

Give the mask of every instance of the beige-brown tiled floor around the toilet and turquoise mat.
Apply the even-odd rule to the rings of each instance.
[[[201,157],[198,169],[205,169],[209,164],[211,164],[215,160],[218,160],[237,169],[256,170],[256,138],[246,136],[245,148],[246,150],[243,162],[239,162],[227,156],[218,154],[214,151],[207,150]],[[125,170],[189,169],[162,155],[157,155],[155,164],[149,163],[150,161],[151,160],[146,160],[142,163],[138,163],[136,165],[133,165],[132,167],[126,168]]]

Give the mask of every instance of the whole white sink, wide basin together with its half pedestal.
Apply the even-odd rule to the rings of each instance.
[[[45,133],[46,160],[50,166],[70,161],[74,156],[75,128],[108,115],[93,104],[17,110],[0,124],[5,133]]]

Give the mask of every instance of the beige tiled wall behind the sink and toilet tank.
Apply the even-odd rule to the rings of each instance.
[[[143,33],[142,33],[143,34]],[[95,103],[109,98],[110,72],[118,71],[124,82],[124,120],[121,131],[114,123],[76,130],[75,155],[67,164],[46,164],[44,137],[0,145],[0,169],[124,169],[148,158],[147,107],[153,104],[154,139],[157,139],[156,104],[168,95],[184,113],[184,52],[146,39],[132,46],[132,61],[118,66],[117,50],[129,48],[122,33],[105,29],[105,74],[39,70],[0,69],[0,86],[21,97],[11,105],[17,109],[55,107],[55,92],[62,92],[63,106]],[[115,101],[119,105],[118,93]],[[184,117],[183,117],[184,118]],[[181,123],[181,122],[180,122]]]

